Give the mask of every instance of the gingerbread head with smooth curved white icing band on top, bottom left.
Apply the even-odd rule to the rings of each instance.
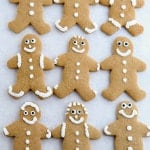
[[[20,110],[20,119],[24,121],[24,123],[32,125],[35,124],[41,116],[39,107],[32,103],[26,102],[22,105]]]

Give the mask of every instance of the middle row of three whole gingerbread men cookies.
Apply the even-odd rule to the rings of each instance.
[[[42,53],[42,44],[37,35],[26,35],[21,44],[21,52],[12,57],[7,65],[18,69],[16,84],[9,87],[8,93],[20,98],[32,90],[40,98],[47,98],[53,93],[64,98],[74,90],[85,101],[93,99],[95,91],[89,86],[89,72],[110,70],[110,85],[102,95],[115,100],[122,92],[128,93],[134,100],[144,98],[145,92],[138,87],[136,72],[143,71],[145,63],[132,56],[133,44],[126,37],[117,37],[113,42],[113,54],[97,63],[87,55],[88,41],[74,36],[69,41],[68,51],[55,59],[57,66],[63,67],[61,83],[54,90],[45,85],[43,70],[50,70],[54,63]]]

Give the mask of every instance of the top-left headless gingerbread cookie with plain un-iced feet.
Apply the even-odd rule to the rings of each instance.
[[[50,26],[43,20],[43,6],[52,4],[52,0],[10,0],[18,4],[16,19],[8,24],[15,33],[19,33],[28,25],[32,25],[40,34],[50,31]]]

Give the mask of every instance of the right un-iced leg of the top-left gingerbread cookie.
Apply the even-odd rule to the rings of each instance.
[[[32,20],[31,24],[39,34],[45,34],[51,30],[50,26],[42,18]]]

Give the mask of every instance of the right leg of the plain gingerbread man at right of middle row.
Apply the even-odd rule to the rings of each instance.
[[[134,88],[129,88],[126,90],[126,92],[135,100],[140,101],[145,97],[145,92],[141,90],[138,86],[135,86]]]

